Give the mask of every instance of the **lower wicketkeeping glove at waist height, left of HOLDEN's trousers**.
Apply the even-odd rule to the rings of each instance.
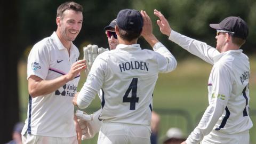
[[[91,115],[76,110],[77,121],[82,129],[82,140],[91,139],[100,131],[102,122],[99,120],[101,109]]]

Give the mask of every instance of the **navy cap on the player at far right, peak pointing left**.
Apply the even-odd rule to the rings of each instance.
[[[249,34],[247,23],[240,17],[227,17],[218,24],[210,24],[211,28],[234,32],[232,36],[246,39]]]

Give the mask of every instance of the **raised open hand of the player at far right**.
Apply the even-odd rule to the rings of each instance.
[[[156,22],[160,28],[161,33],[170,36],[172,29],[168,21],[165,19],[164,15],[157,10],[154,10],[154,14],[159,18],[159,20],[157,20]]]

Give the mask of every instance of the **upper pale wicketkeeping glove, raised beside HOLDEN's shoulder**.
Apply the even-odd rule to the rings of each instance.
[[[98,47],[98,45],[87,45],[84,48],[84,59],[86,61],[86,71],[89,72],[91,70],[92,64],[96,57],[102,52],[109,51],[108,49],[104,49],[103,47]]]

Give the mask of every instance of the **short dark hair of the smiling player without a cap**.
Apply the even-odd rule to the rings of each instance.
[[[83,12],[83,6],[75,2],[66,2],[61,4],[57,9],[57,17],[62,18],[63,12],[66,10],[74,10],[76,12]]]

